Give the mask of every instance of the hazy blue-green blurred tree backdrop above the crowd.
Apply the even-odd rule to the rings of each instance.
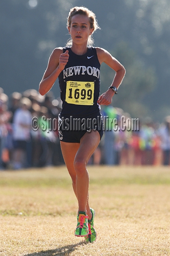
[[[170,114],[169,0],[5,0],[0,1],[0,86],[10,95],[38,89],[55,47],[69,38],[66,17],[73,6],[94,11],[101,30],[95,46],[105,48],[126,68],[113,98],[132,117],[162,121]],[[114,72],[101,67],[101,93]],[[58,82],[53,86],[59,96]]]

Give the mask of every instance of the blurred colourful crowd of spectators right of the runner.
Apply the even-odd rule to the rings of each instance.
[[[103,114],[117,118],[119,128],[105,132],[104,162],[105,164],[124,165],[169,165],[170,164],[170,116],[164,118],[163,123],[153,122],[150,117],[139,120],[139,129],[121,130],[121,117],[132,120],[128,113],[119,108],[107,106]],[[119,124],[120,122],[120,124]],[[131,122],[132,124],[133,122]],[[134,126],[135,128],[135,126]]]

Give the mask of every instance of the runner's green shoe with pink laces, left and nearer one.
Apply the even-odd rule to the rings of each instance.
[[[75,229],[75,236],[87,236],[88,235],[88,216],[86,212],[79,212],[77,215],[77,227]]]

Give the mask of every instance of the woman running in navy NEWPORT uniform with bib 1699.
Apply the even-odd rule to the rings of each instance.
[[[59,136],[63,158],[72,178],[78,200],[75,236],[84,236],[87,242],[96,240],[94,209],[88,203],[88,160],[97,148],[103,129],[100,105],[109,105],[125,75],[125,68],[102,48],[94,48],[91,35],[99,28],[95,14],[85,7],[70,10],[67,22],[71,47],[55,48],[39,84],[41,95],[46,94],[59,77],[62,110],[59,115]],[[105,93],[100,94],[100,64],[105,62],[115,70],[115,77]],[[72,120],[80,121],[74,127]],[[89,126],[97,124],[95,126]],[[97,123],[96,123],[97,120]],[[101,123],[100,123],[101,124]],[[78,129],[79,128],[79,129]]]

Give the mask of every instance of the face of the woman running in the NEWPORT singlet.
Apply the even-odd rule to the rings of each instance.
[[[72,41],[76,44],[87,42],[88,37],[92,34],[93,30],[93,28],[90,28],[89,18],[82,14],[74,15],[70,27],[68,27]]]

